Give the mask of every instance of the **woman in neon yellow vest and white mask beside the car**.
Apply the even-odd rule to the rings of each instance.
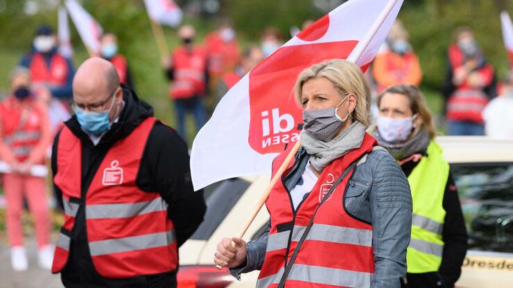
[[[419,89],[402,84],[378,96],[373,136],[399,161],[412,192],[412,235],[403,287],[454,287],[467,252],[467,231],[449,164]]]

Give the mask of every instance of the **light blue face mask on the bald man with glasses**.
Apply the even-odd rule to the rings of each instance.
[[[114,106],[114,98],[116,97],[112,96],[110,108],[105,111],[85,111],[84,109],[73,107],[80,127],[82,127],[85,132],[95,135],[102,134],[110,129],[112,123],[110,123],[109,114]]]

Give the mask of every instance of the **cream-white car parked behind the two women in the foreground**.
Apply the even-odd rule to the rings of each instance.
[[[513,139],[442,136],[437,143],[451,164],[470,236],[457,287],[513,287]],[[268,182],[267,176],[241,177],[206,192],[205,222],[180,247],[179,288],[255,287],[259,271],[238,281],[213,259],[218,242],[236,235]],[[263,208],[245,240],[264,233],[268,217]]]

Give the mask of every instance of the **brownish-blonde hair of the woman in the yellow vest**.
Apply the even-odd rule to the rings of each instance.
[[[426,131],[429,134],[429,138],[435,138],[435,124],[433,124],[433,116],[431,116],[431,111],[429,110],[428,103],[426,102],[426,98],[422,95],[422,92],[415,85],[410,84],[399,84],[392,87],[388,87],[383,93],[379,94],[377,98],[378,107],[381,105],[381,99],[386,93],[393,94],[401,94],[406,96],[408,100],[410,100],[410,109],[412,110],[412,114],[419,115],[420,117],[420,125],[417,125],[415,129],[413,129],[413,133],[409,138],[417,135],[421,131]]]

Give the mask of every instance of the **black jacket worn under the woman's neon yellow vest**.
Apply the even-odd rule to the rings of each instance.
[[[426,152],[424,152],[426,154]],[[427,155],[429,156],[429,155]],[[418,162],[409,161],[404,163],[401,168],[404,174],[409,176]],[[403,287],[423,288],[423,287],[444,287],[452,288],[454,283],[460,278],[461,266],[465,255],[467,254],[467,228],[463,219],[460,199],[458,198],[458,189],[455,186],[453,175],[449,171],[449,178],[445,186],[444,200],[442,202],[446,215],[444,228],[442,230],[442,240],[444,241],[444,253],[442,254],[442,264],[438,273],[408,273],[406,276],[407,285]]]

